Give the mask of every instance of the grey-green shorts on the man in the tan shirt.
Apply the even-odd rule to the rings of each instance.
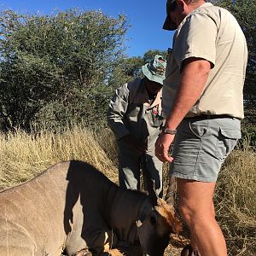
[[[172,148],[170,174],[201,182],[216,182],[225,158],[241,138],[235,118],[183,119]]]

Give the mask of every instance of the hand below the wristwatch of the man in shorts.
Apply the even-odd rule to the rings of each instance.
[[[155,155],[162,162],[172,162],[173,158],[168,154],[175,135],[161,133],[155,146]]]

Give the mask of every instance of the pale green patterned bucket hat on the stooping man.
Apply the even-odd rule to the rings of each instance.
[[[154,59],[142,68],[143,75],[150,81],[163,84],[163,80],[166,79],[166,60],[161,55],[155,55]]]

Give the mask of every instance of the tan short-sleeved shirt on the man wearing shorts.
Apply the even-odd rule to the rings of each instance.
[[[170,102],[175,98],[183,61],[190,57],[210,61],[212,69],[205,90],[187,116],[230,114],[242,119],[247,44],[234,16],[212,3],[205,3],[178,26],[163,87],[166,115],[172,109]]]

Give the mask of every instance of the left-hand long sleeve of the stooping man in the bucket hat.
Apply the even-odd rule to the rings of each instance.
[[[108,125],[117,140],[130,133],[123,121],[129,104],[129,93],[127,84],[119,87],[108,106]]]

